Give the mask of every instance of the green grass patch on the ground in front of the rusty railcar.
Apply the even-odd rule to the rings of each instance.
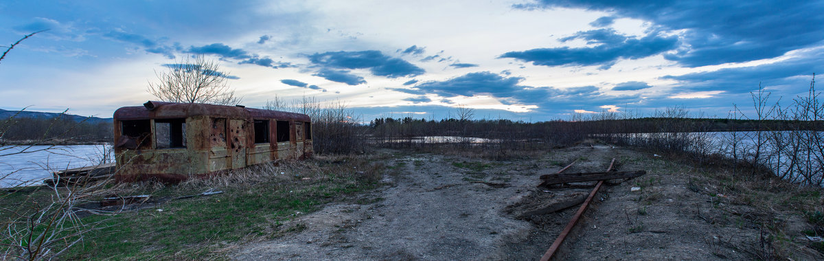
[[[59,259],[222,259],[220,249],[259,237],[278,237],[306,229],[300,223],[283,224],[315,212],[325,203],[382,200],[353,197],[381,185],[380,172],[386,168],[372,162],[351,159],[344,164],[327,164],[309,160],[285,167],[272,166],[269,170],[249,170],[252,177],[254,171],[269,171],[261,174],[266,178],[252,178],[254,180],[142,184],[138,189],[128,186],[124,195],[151,193],[155,198],[176,198],[211,188],[224,193],[171,200],[157,207],[120,212],[111,217],[82,217],[84,223],[101,221],[101,224],[96,231],[83,235],[85,240]],[[7,193],[2,204],[31,203],[46,198],[49,191]]]

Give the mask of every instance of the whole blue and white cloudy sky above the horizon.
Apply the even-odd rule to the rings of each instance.
[[[0,2],[0,109],[111,117],[157,73],[217,61],[242,105],[544,121],[788,105],[824,72],[824,1]],[[5,50],[2,48],[0,50]]]

